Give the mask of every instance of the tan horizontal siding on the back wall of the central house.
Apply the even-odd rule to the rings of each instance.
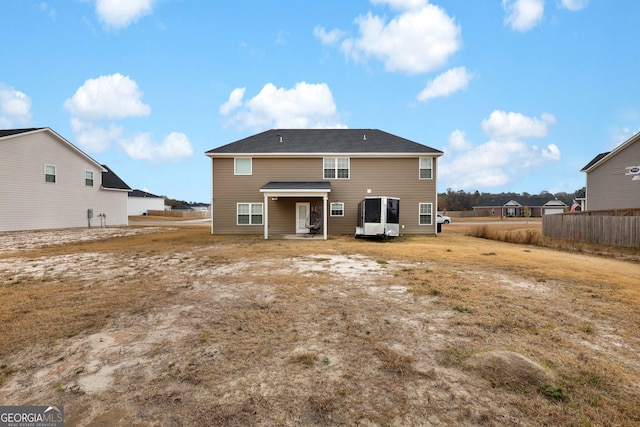
[[[353,234],[358,204],[366,196],[400,198],[403,234],[434,234],[436,211],[435,179],[418,179],[418,156],[405,158],[351,157],[350,179],[323,179],[322,158],[253,158],[250,176],[234,176],[233,158],[213,160],[213,233],[262,234],[263,226],[236,225],[236,203],[263,203],[260,187],[271,181],[329,181],[331,202],[344,203],[344,217],[328,217],[329,234]],[[434,158],[433,176],[437,161]],[[370,193],[367,190],[371,190]],[[310,202],[322,208],[322,198],[283,198],[269,200],[269,234],[295,233],[295,203]],[[432,203],[432,225],[418,225],[419,203]]]

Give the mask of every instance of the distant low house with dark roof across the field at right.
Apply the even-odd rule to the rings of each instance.
[[[562,200],[548,197],[504,196],[473,206],[478,216],[542,217],[564,213],[568,206]]]

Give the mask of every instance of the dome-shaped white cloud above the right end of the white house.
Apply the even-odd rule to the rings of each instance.
[[[83,120],[122,119],[151,113],[151,107],[142,102],[138,84],[119,73],[85,81],[64,102],[64,107]]]

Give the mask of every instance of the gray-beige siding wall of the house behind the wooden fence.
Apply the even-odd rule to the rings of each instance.
[[[587,209],[640,207],[640,181],[625,175],[628,166],[640,165],[640,140],[587,174]]]

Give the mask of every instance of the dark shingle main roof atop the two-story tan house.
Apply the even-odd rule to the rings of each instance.
[[[442,151],[377,129],[271,129],[206,152],[216,154],[416,153]]]

